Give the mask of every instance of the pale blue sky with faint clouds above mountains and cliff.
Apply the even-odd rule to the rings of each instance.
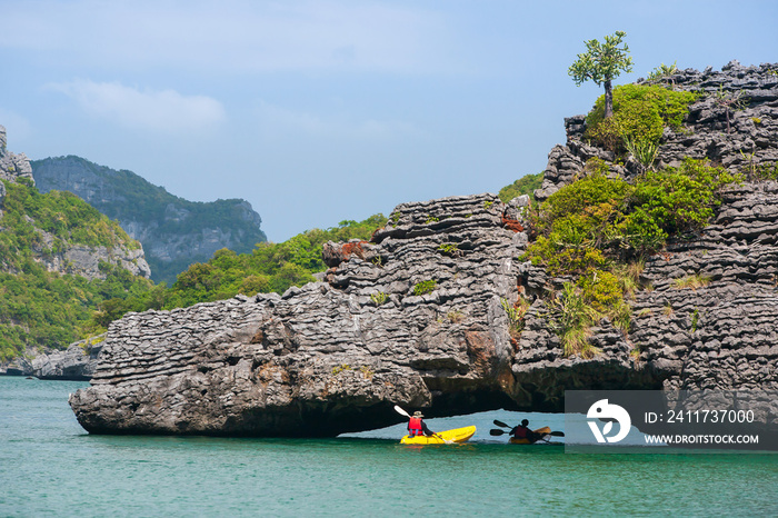
[[[194,201],[248,200],[269,240],[545,169],[568,76],[627,32],[635,67],[778,62],[775,0],[0,0],[0,124]]]

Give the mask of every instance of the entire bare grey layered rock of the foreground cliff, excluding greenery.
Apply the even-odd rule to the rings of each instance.
[[[662,137],[660,159],[691,151],[737,170],[772,160],[776,133],[762,129],[778,123],[776,69],[679,72],[678,86],[750,88],[750,101],[727,132],[726,113],[701,99],[690,131]],[[592,156],[635,173],[582,141],[582,117],[566,123],[541,198]],[[697,239],[650,257],[642,280],[651,289],[630,301],[628,331],[601,320],[592,358],[566,356],[550,328],[542,295],[565,279],[519,260],[526,202],[405,203],[369,242],[326,247],[321,282],[127,316],[109,329],[92,386],[70,405],[91,432],[331,436],[396,422],[395,404],[441,416],[561,411],[566,389],[778,390],[778,183],[730,189]],[[706,286],[675,282],[700,272]],[[519,293],[532,303],[517,335],[508,311]]]

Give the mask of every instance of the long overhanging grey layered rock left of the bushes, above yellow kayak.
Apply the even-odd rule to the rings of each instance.
[[[503,209],[493,195],[406,203],[325,282],[124,317],[93,386],[70,400],[79,422],[331,436],[396,422],[395,404],[505,404],[513,350],[500,299],[516,299],[526,236],[503,228]]]

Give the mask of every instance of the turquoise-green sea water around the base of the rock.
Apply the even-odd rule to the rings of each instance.
[[[563,418],[508,411],[427,421],[476,425],[458,446],[400,446],[403,425],[336,439],[90,436],[67,401],[87,385],[0,377],[0,517],[778,516],[778,455],[510,446],[489,436],[492,419]]]

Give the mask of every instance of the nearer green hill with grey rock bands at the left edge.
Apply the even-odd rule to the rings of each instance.
[[[116,221],[71,192],[36,189],[0,126],[0,372],[102,331],[90,323],[100,305],[151,291],[148,276],[141,245]]]

